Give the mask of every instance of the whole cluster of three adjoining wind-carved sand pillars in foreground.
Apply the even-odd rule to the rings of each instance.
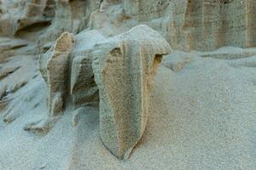
[[[73,106],[99,103],[103,144],[113,155],[128,157],[143,136],[153,77],[171,48],[148,26],[98,42],[72,60],[74,41],[72,34],[64,32],[40,58],[49,91],[49,116],[61,114],[69,95]]]

